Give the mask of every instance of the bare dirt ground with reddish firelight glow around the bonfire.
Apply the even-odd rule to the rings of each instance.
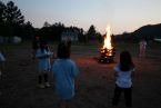
[[[98,47],[72,46],[71,58],[77,62],[80,73],[76,97],[70,108],[112,108],[114,90],[113,67],[122,49],[130,50],[137,71],[133,79],[132,108],[161,108],[161,45],[148,47],[147,57],[138,57],[138,48],[127,45],[118,47],[113,63],[99,63]],[[56,47],[51,49],[56,52]],[[30,47],[22,46],[3,51],[7,57],[6,71],[0,80],[0,108],[58,108],[52,87],[37,88],[38,67],[31,59]],[[125,108],[123,95],[119,108]]]

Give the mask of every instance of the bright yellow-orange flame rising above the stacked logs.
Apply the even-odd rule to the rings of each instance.
[[[110,30],[110,26],[107,27],[107,35],[104,37],[104,45],[103,45],[103,49],[112,49],[112,45],[111,45],[111,30]]]

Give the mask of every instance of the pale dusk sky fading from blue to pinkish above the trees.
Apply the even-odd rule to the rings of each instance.
[[[10,0],[2,0],[7,3]],[[62,22],[88,30],[91,24],[104,33],[131,32],[145,24],[161,23],[161,0],[12,0],[26,21],[41,28]]]

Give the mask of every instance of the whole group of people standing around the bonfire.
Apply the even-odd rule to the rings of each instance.
[[[140,42],[140,57],[145,56],[145,40],[142,40]],[[74,97],[74,81],[80,72],[76,62],[70,58],[71,43],[60,42],[56,57],[51,52],[48,42],[40,40],[40,37],[36,37],[32,42],[32,58],[38,61],[38,87],[44,89],[51,86],[48,76],[49,71],[52,71],[54,77],[54,91],[60,100],[59,107],[69,108],[70,101]],[[0,52],[0,76],[2,76],[4,61],[6,58]],[[120,61],[114,66],[113,70],[115,71],[115,89],[113,91],[112,105],[119,105],[121,92],[123,92],[127,107],[132,107],[132,77],[135,66],[128,50],[120,52]]]

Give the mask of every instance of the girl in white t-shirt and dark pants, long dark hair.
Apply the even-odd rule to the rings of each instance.
[[[120,53],[120,63],[114,67],[115,70],[115,89],[113,97],[113,106],[118,106],[121,92],[124,92],[127,107],[132,107],[132,75],[134,65],[129,51]]]

